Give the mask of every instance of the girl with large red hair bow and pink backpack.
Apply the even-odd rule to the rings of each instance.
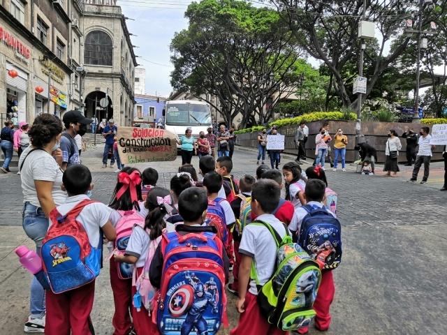
[[[115,209],[110,215],[110,221],[117,231],[126,226],[138,224],[144,225],[145,218],[140,216],[141,198],[141,174],[138,169],[125,167],[119,172],[117,186],[112,194],[109,207]],[[127,238],[130,237],[128,234]],[[126,238],[125,236],[123,237]],[[126,243],[120,244],[115,241],[115,250],[125,250]],[[123,249],[124,246],[124,249]],[[123,277],[125,267],[119,266],[110,258],[110,285],[112,286],[113,301],[115,303],[115,313],[112,318],[112,325],[115,327],[113,335],[127,335],[132,330],[131,308],[132,308],[132,277]],[[130,267],[127,269],[129,272]]]

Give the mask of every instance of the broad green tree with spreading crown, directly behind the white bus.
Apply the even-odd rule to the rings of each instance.
[[[271,99],[274,107],[299,80],[298,45],[279,14],[244,1],[204,0],[191,3],[185,15],[189,27],[170,45],[173,87],[203,98],[228,125],[239,113],[242,127],[255,114],[260,123],[269,121],[265,103]]]

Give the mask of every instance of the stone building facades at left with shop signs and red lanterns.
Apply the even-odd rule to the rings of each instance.
[[[75,108],[92,117],[95,108],[91,98],[108,93],[110,104],[99,108],[98,118],[114,117],[118,124],[131,123],[136,61],[129,31],[121,8],[113,6],[113,1],[95,3],[0,3],[2,122],[31,123],[43,112],[62,117],[66,110]]]

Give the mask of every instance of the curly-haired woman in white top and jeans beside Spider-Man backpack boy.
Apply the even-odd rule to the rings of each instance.
[[[65,201],[62,191],[62,152],[59,149],[61,139],[61,120],[52,114],[42,114],[28,131],[31,145],[22,152],[19,160],[20,179],[23,193],[23,229],[36,243],[39,254],[43,237],[48,230],[50,211]],[[31,304],[28,322],[24,332],[45,327],[44,290],[33,278],[31,282]],[[34,330],[33,330],[34,329]]]

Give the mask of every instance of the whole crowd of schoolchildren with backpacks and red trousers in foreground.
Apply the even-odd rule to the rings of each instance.
[[[312,228],[311,221],[318,218],[326,228],[333,224],[337,195],[328,188],[324,170],[317,166],[303,172],[291,162],[281,174],[260,165],[256,177],[246,174],[238,181],[232,169],[229,157],[214,161],[203,156],[198,173],[192,165],[183,165],[168,190],[157,186],[159,176],[153,168],[140,172],[125,167],[117,174],[106,206],[87,196],[93,187],[89,169],[68,167],[63,175],[68,198],[50,214],[52,225],[41,251],[51,288],[46,290],[45,334],[94,334],[89,315],[103,246],[110,254],[115,335],[215,334],[221,325],[228,325],[226,284],[231,282],[231,269],[228,290],[238,297],[240,320],[230,334],[306,334],[314,313],[316,329],[328,329],[335,294],[331,269],[339,262],[341,241],[326,234],[321,243],[318,232],[303,232],[304,225]],[[67,232],[67,225],[73,230]],[[80,258],[82,269],[73,267],[71,275],[52,272],[51,265],[68,264],[74,258],[75,247],[65,247],[71,243],[70,234],[78,240],[73,245],[80,246],[81,255],[88,249]],[[312,234],[321,244],[316,245],[318,250],[309,248],[312,243],[306,238]],[[339,235],[339,230],[332,234]],[[291,254],[295,258],[287,256],[286,263],[293,267],[292,261],[302,262],[293,271],[283,265],[285,261],[277,264],[278,250],[287,251],[288,246],[295,248]],[[320,261],[314,262],[310,255]],[[311,260],[319,267],[304,273]],[[274,288],[283,270],[298,279]],[[271,318],[266,317],[257,296],[272,276],[277,276],[272,284],[277,296],[286,294],[291,297],[287,304],[310,312],[300,314],[290,306],[280,311],[277,306]],[[289,312],[282,313],[287,308]],[[175,321],[179,317],[182,322]]]

